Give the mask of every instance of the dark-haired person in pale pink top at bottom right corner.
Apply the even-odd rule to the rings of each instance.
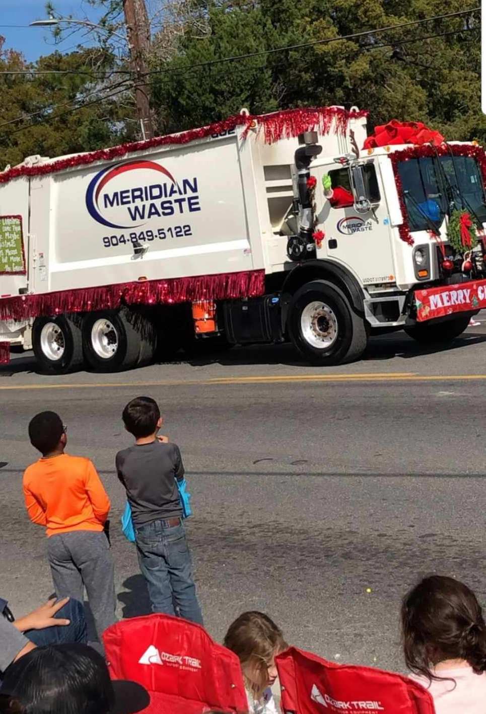
[[[412,588],[402,604],[402,643],[437,714],[486,712],[486,625],[467,585],[432,575]]]

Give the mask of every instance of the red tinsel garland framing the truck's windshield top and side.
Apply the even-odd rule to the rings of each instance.
[[[410,159],[422,159],[424,157],[433,158],[435,156],[470,156],[476,159],[482,174],[482,181],[486,184],[486,154],[482,146],[477,144],[442,144],[441,146],[431,146],[423,144],[422,146],[410,146],[410,149],[402,149],[402,151],[393,151],[390,154],[393,171],[395,174],[395,184],[397,186],[398,200],[400,202],[400,211],[402,212],[402,225],[398,231],[400,238],[409,246],[413,246],[414,239],[410,233],[410,224],[407,218],[407,208],[405,206],[405,196],[403,194],[402,180],[398,173],[398,164],[400,161],[409,161]]]

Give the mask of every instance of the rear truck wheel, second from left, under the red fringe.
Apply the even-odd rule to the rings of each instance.
[[[83,321],[86,362],[95,372],[119,372],[137,366],[142,343],[139,316],[127,308],[87,313]]]

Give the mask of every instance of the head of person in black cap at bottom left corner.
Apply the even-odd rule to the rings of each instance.
[[[141,685],[111,681],[104,658],[83,644],[31,650],[0,687],[1,714],[134,714],[149,702]]]

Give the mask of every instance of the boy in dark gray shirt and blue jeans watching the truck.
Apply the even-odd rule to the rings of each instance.
[[[152,398],[132,399],[122,418],[135,443],[116,454],[116,473],[132,508],[152,612],[180,615],[202,625],[176,483],[184,478],[181,452],[157,438],[162,418]]]

